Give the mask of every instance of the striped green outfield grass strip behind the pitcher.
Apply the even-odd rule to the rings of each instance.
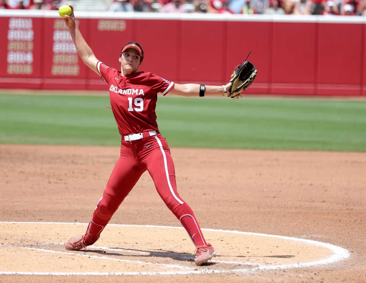
[[[119,145],[106,96],[0,95],[0,143]],[[366,101],[158,97],[170,146],[366,151]]]

